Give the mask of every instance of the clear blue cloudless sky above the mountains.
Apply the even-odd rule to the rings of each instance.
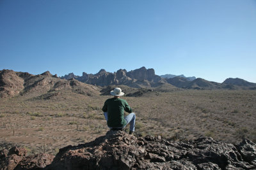
[[[0,69],[256,82],[255,0],[0,0]]]

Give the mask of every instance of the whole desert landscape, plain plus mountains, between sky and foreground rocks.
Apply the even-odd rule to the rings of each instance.
[[[137,115],[135,136],[256,141],[256,84],[238,78],[223,83],[161,78],[145,67],[62,78],[49,71],[33,75],[2,70],[0,86],[2,148],[18,145],[29,153],[56,154],[64,146],[106,134],[101,109],[115,87],[124,91]]]

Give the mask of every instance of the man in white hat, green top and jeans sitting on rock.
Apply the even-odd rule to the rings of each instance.
[[[120,88],[115,88],[110,94],[114,97],[107,99],[102,108],[108,127],[113,131],[118,131],[124,129],[124,127],[130,123],[129,134],[133,134],[136,116],[135,113],[132,113],[132,109],[127,101],[120,99],[120,96],[123,96],[124,92],[122,92]],[[124,111],[130,114],[124,117]]]

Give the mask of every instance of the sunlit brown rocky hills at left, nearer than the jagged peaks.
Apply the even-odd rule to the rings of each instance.
[[[0,71],[0,97],[17,95],[50,99],[61,93],[72,92],[85,96],[99,95],[100,89],[75,79],[63,80],[49,71],[33,75],[4,69]]]

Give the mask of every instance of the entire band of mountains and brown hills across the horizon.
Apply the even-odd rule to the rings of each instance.
[[[52,75],[49,71],[38,75],[8,69],[0,71],[0,97],[30,94],[30,96],[47,99],[58,96],[61,92],[92,96],[108,94],[108,91],[116,85],[122,86],[126,92],[129,92],[130,96],[140,96],[153,89],[161,92],[179,89],[256,89],[256,83],[240,78],[227,78],[223,83],[207,81],[202,78],[191,80],[191,78],[183,76],[163,78],[163,76],[157,76],[154,69],[146,69],[145,67],[132,71],[119,69],[114,73],[100,69],[97,74],[83,73],[82,76],[69,73],[61,76],[61,78],[56,74]]]

